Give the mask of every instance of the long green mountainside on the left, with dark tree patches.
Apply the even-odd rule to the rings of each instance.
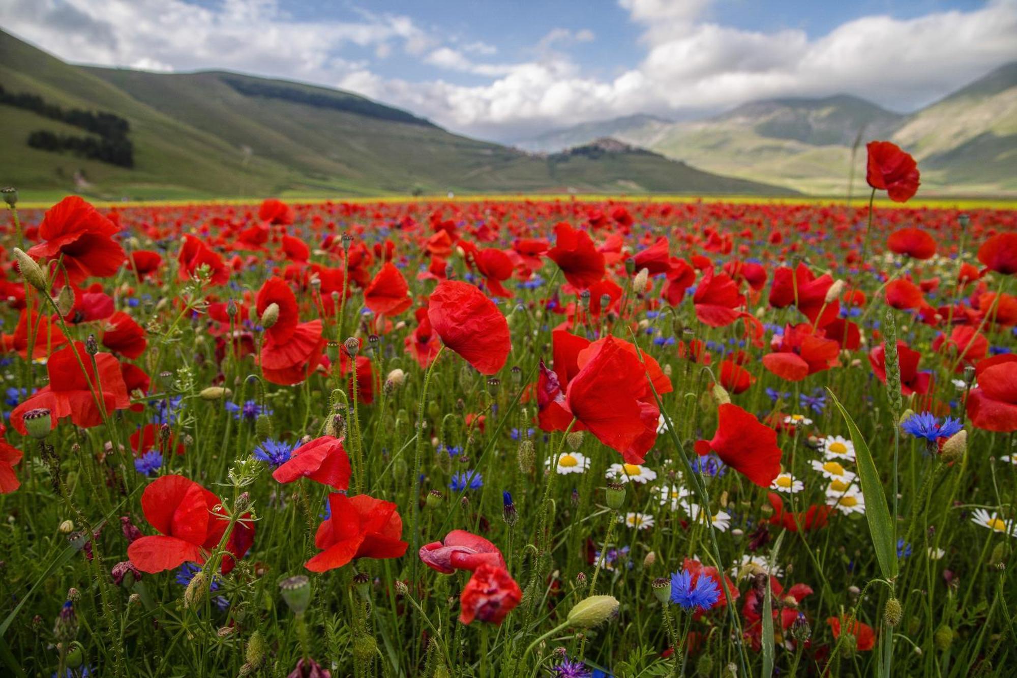
[[[0,184],[22,190],[97,197],[793,192],[623,145],[528,154],[328,88],[223,71],[75,66],[3,32],[0,84]]]

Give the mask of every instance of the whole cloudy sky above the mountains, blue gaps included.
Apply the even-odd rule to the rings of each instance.
[[[910,111],[1017,60],[1017,0],[0,0],[72,62],[352,90],[515,140],[777,96]]]

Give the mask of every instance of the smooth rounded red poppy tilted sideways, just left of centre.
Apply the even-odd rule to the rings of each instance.
[[[483,375],[493,375],[508,359],[508,323],[487,296],[469,283],[446,280],[427,302],[431,327],[445,346]]]

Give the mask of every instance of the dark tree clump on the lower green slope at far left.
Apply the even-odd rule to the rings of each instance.
[[[48,103],[39,95],[7,92],[2,86],[0,86],[0,104],[32,111],[45,118],[58,120],[96,134],[96,136],[74,136],[37,129],[28,134],[27,144],[33,149],[54,153],[70,152],[89,160],[120,167],[134,166],[134,145],[127,138],[130,123],[119,115],[79,108],[64,109]]]

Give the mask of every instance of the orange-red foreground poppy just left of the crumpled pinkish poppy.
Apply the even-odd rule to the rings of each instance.
[[[311,572],[325,572],[343,567],[354,558],[399,558],[406,553],[403,518],[392,502],[367,495],[347,497],[328,495],[332,514],[318,525],[314,546],[321,553],[304,567]]]

